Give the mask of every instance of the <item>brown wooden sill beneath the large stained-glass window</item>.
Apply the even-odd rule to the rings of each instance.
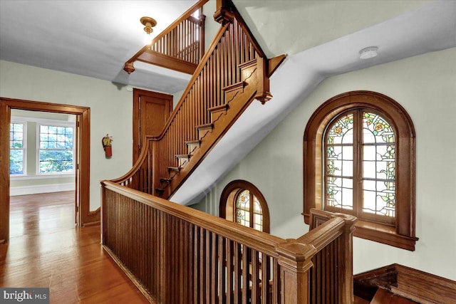
[[[304,222],[309,224],[308,214],[304,214]],[[393,226],[358,219],[355,227],[353,236],[415,251],[415,243],[418,241],[418,238],[400,235],[395,231],[395,227]]]

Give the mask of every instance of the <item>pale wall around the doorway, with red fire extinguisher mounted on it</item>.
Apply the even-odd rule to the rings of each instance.
[[[100,206],[100,183],[132,167],[133,93],[81,75],[0,61],[0,96],[90,108],[90,210]],[[113,136],[106,159],[101,139]]]

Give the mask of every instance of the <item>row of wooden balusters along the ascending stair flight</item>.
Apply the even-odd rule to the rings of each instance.
[[[187,31],[182,28],[181,30]],[[247,33],[234,20],[227,27],[227,31],[202,67],[195,83],[182,99],[180,108],[175,110],[175,115],[164,135],[157,142],[159,167],[155,176],[156,183],[160,177],[168,176],[167,167],[170,164],[177,166],[176,154],[187,154],[185,142],[198,139],[197,126],[212,123],[209,109],[224,105],[223,89],[242,80],[239,65],[257,56],[257,51],[252,41],[249,41]]]

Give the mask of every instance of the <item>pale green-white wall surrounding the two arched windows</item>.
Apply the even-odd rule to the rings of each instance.
[[[220,194],[246,179],[264,194],[271,234],[296,238],[308,227],[303,208],[302,147],[306,123],[319,105],[351,90],[372,90],[403,105],[417,135],[415,251],[354,239],[353,270],[399,263],[456,281],[456,48],[336,75],[323,82],[199,202],[218,214]],[[271,92],[274,95],[274,92]],[[268,103],[280,102],[270,100]]]

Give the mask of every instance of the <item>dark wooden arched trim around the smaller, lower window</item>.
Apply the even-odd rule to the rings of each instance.
[[[238,194],[244,190],[249,190],[250,193],[257,197],[263,214],[263,232],[269,233],[269,209],[266,204],[266,199],[264,199],[263,194],[261,194],[259,189],[257,189],[254,184],[241,179],[229,182],[229,184],[224,187],[222,195],[220,196],[220,217],[229,221],[234,221],[235,200],[237,199]]]

